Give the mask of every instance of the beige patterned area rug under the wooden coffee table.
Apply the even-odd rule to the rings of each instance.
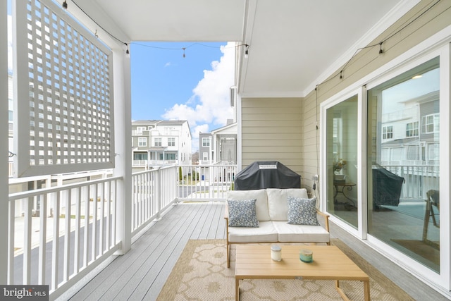
[[[413,300],[340,240],[332,240],[370,276],[371,300]],[[235,248],[226,267],[225,240],[190,240],[180,255],[157,300],[235,300]],[[340,281],[350,300],[364,300],[363,284]],[[342,300],[335,281],[240,281],[240,300]]]

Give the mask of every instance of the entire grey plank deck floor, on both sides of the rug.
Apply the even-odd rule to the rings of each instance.
[[[225,239],[224,202],[180,203],[117,256],[71,300],[156,300],[187,240]],[[447,300],[371,248],[330,223],[340,238],[415,300]],[[226,247],[226,245],[224,245]]]

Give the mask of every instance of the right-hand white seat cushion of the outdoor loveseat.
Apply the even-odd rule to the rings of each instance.
[[[330,235],[323,226],[290,225],[286,221],[273,221],[280,242],[329,242]]]

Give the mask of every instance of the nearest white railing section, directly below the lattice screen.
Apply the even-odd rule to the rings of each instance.
[[[59,295],[119,249],[121,177],[9,195],[8,284],[47,284]],[[16,216],[16,206],[23,216]],[[53,299],[53,298],[51,298]]]

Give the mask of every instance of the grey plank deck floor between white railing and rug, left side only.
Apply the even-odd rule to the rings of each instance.
[[[223,239],[221,202],[173,206],[70,300],[155,300],[190,239]],[[215,225],[216,224],[216,225]],[[210,232],[214,228],[215,235]],[[209,234],[210,233],[210,234]]]

